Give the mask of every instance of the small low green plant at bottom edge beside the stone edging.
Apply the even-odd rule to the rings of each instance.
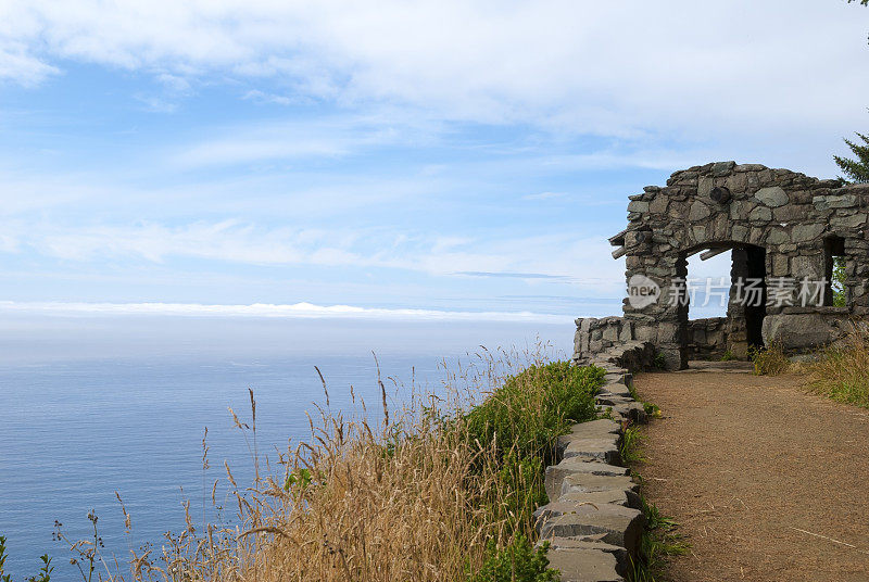
[[[468,573],[468,582],[558,582],[558,570],[546,559],[549,542],[534,549],[524,535],[516,535],[507,547],[498,549],[493,542],[480,571]]]

